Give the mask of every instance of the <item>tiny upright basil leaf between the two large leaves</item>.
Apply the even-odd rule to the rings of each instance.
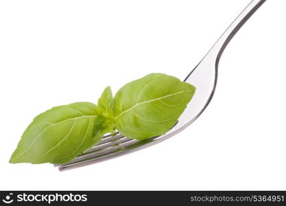
[[[106,87],[102,96],[97,102],[97,111],[99,115],[106,118],[114,117],[114,99],[110,87]]]

